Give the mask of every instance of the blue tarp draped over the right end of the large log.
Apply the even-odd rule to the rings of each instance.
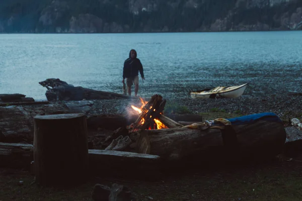
[[[265,120],[270,122],[280,122],[280,118],[274,114],[274,113],[260,113],[260,114],[254,114],[254,115],[248,115],[243,117],[237,117],[233,119],[227,119],[231,122],[232,125],[243,125],[243,124],[253,124],[257,120]]]

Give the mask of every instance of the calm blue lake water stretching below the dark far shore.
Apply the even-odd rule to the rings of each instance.
[[[302,92],[302,32],[1,34],[0,93],[46,99],[38,82],[122,93],[130,49],[144,67],[139,95],[186,97],[189,90],[248,82],[245,95]]]

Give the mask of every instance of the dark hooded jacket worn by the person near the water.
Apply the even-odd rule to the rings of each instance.
[[[129,53],[129,58],[125,60],[124,62],[124,69],[123,69],[123,79],[135,77],[138,75],[138,71],[140,72],[141,77],[144,77],[143,75],[143,68],[142,64],[140,63],[140,60],[136,58],[136,51],[135,52],[135,58],[131,58],[131,51]]]

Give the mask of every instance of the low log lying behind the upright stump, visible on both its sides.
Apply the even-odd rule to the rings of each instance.
[[[88,157],[93,176],[145,179],[164,167],[159,156],[148,154],[89,149]],[[0,167],[29,170],[33,160],[33,145],[0,143]]]

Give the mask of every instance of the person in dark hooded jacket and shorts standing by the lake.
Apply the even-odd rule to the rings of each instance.
[[[123,85],[127,85],[128,95],[131,95],[131,86],[134,83],[134,93],[137,96],[138,92],[138,71],[142,80],[144,80],[143,68],[140,60],[137,58],[137,53],[135,50],[130,50],[129,58],[124,62],[123,68]]]

